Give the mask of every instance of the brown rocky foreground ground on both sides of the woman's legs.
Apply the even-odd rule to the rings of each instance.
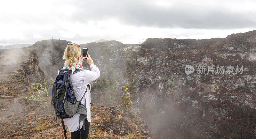
[[[0,110],[0,138],[63,139],[61,121],[55,120],[50,100],[51,97],[48,97],[41,103],[29,103],[24,95],[0,98],[0,102],[6,105]],[[89,138],[150,138],[145,121],[136,114],[133,116],[131,110],[120,106],[92,106],[91,114]],[[117,130],[112,125],[122,128]],[[67,136],[71,138],[68,129]]]

